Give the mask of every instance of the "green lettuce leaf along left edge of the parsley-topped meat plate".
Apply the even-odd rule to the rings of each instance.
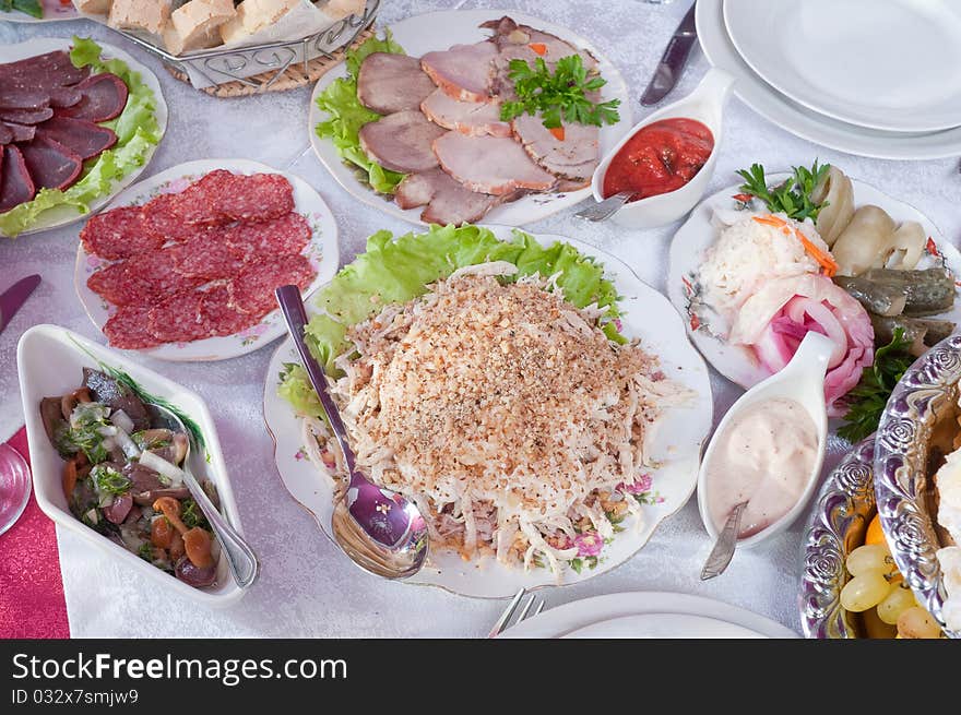
[[[404,49],[385,31],[384,38],[371,37],[356,49],[347,52],[347,76],[334,80],[317,97],[317,106],[329,115],[327,121],[317,124],[315,131],[321,139],[329,139],[341,157],[357,168],[361,179],[379,193],[393,193],[404,178],[403,174],[383,168],[371,162],[360,148],[358,132],[371,121],[380,119],[380,115],[370,111],[357,99],[357,73],[360,63],[372,52],[392,52],[403,55]]]

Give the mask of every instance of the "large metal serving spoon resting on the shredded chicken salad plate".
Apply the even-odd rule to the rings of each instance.
[[[297,286],[281,286],[276,296],[290,338],[320,397],[349,475],[344,498],[334,507],[331,519],[334,538],[344,553],[365,571],[385,579],[411,576],[420,570],[427,558],[427,523],[406,498],[378,487],[357,470],[347,430],[328,390],[327,376],[304,342],[307,313],[300,290]]]

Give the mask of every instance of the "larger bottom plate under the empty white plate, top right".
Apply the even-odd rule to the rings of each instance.
[[[881,159],[937,159],[961,154],[961,129],[926,134],[883,132],[812,112],[758,76],[738,53],[722,12],[723,0],[698,0],[698,40],[714,67],[731,72],[734,94],[785,131],[839,152]]]

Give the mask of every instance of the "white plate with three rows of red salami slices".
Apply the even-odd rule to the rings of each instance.
[[[274,284],[307,296],[337,261],[336,224],[306,181],[246,159],[199,160],[128,188],[92,218],[74,285],[116,347],[220,360],[286,332]]]

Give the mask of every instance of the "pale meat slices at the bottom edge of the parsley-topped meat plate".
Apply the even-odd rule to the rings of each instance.
[[[404,210],[427,206],[420,214],[427,223],[460,225],[482,218],[500,199],[471,191],[437,168],[405,177],[398,184],[394,201]]]

